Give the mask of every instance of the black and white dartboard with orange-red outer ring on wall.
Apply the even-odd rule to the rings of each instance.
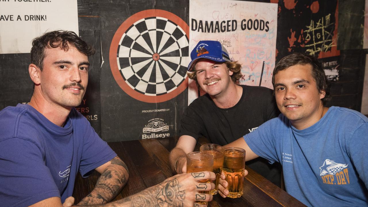
[[[120,25],[110,46],[117,84],[131,97],[157,103],[188,87],[189,26],[164,10],[145,10]]]

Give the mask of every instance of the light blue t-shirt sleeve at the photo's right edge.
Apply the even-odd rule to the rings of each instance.
[[[368,189],[368,123],[362,124],[354,131],[348,144],[348,153],[353,162],[359,178]]]

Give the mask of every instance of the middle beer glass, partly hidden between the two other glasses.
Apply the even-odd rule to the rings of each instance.
[[[223,148],[218,144],[204,144],[199,148],[199,151],[207,152],[209,154],[212,154],[214,157],[212,172],[216,174],[216,180],[215,180],[215,189],[211,190],[210,193],[212,195],[216,195],[217,189],[219,189],[219,181],[221,179],[220,175],[222,171],[222,165],[224,163],[225,148]]]

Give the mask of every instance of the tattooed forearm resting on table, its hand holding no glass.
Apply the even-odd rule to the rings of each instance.
[[[97,180],[92,192],[82,199],[78,206],[103,204],[111,201],[128,181],[127,165],[120,158],[114,157],[111,164]]]

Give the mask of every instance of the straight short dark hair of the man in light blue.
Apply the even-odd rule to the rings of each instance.
[[[280,70],[287,69],[295,65],[311,65],[312,66],[312,77],[316,81],[317,90],[321,93],[322,90],[326,92],[325,97],[321,99],[323,106],[330,99],[330,84],[326,78],[325,71],[323,70],[321,62],[311,55],[302,53],[293,53],[286,57],[283,57],[273,69],[272,74],[272,85],[275,89],[275,76]]]

